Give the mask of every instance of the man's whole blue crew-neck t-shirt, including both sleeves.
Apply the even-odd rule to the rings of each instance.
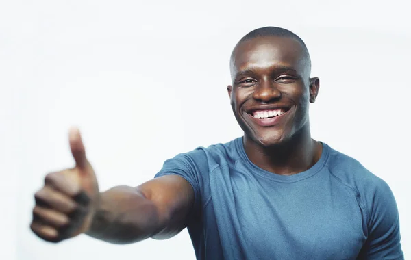
[[[247,157],[242,138],[164,162],[195,193],[188,232],[197,259],[403,259],[390,187],[323,144],[309,170],[282,176]]]

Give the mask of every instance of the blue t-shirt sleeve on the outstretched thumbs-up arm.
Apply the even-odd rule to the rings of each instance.
[[[201,209],[201,194],[203,190],[203,177],[208,173],[206,155],[201,148],[189,153],[181,153],[172,159],[164,161],[162,169],[154,178],[175,174],[183,177],[190,183],[194,191],[194,205],[191,213]]]

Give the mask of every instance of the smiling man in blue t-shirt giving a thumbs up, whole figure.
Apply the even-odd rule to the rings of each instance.
[[[292,32],[251,31],[232,52],[227,87],[244,136],[179,154],[138,187],[100,193],[72,129],[76,166],[47,174],[32,231],[127,244],[188,227],[197,259],[403,259],[388,185],[311,138],[319,79],[310,66]]]

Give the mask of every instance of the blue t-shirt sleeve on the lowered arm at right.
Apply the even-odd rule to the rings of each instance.
[[[369,238],[361,259],[403,259],[397,203],[388,184],[379,179],[370,194]]]

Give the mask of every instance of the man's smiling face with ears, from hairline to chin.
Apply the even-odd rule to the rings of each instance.
[[[308,127],[308,104],[319,79],[310,79],[310,61],[292,38],[267,36],[240,43],[232,58],[231,105],[245,137],[269,147]]]

